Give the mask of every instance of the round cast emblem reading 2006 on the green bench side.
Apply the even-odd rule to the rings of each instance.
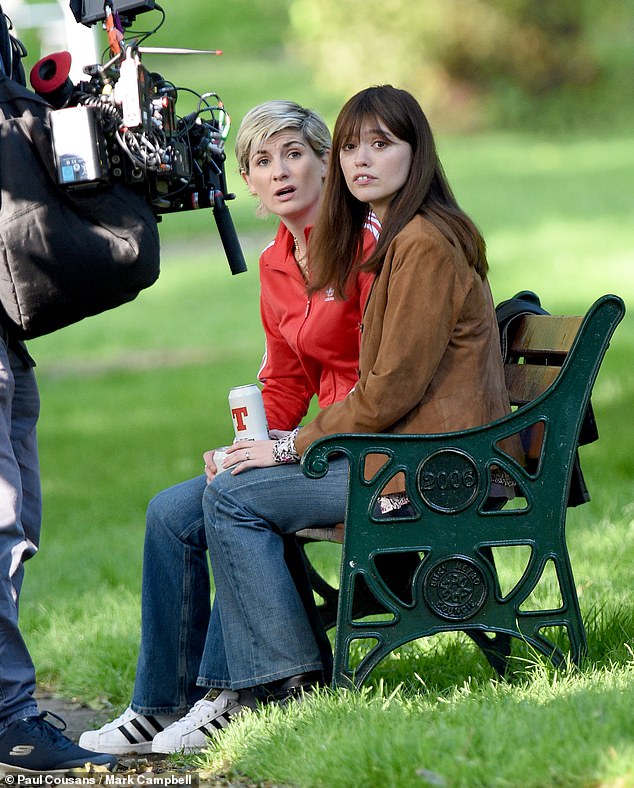
[[[439,512],[460,512],[475,500],[480,487],[478,468],[471,457],[457,449],[431,454],[418,471],[421,498]]]

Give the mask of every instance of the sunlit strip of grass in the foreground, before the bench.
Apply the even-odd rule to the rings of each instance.
[[[274,785],[323,788],[631,785],[633,685],[630,663],[583,676],[537,669],[521,686],[465,683],[441,696],[323,693],[248,715],[203,765],[238,760]]]

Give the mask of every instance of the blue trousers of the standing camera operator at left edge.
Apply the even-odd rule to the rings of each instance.
[[[42,520],[39,411],[33,369],[0,338],[0,730],[38,713],[18,602],[24,562],[37,551]]]

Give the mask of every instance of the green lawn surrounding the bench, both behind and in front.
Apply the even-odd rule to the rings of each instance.
[[[633,303],[628,140],[486,135],[440,149],[486,234],[496,301],[531,288],[553,312],[605,292]],[[230,437],[227,391],[261,358],[257,255],[272,225],[240,201],[248,273],[229,274],[201,215],[186,239],[163,228],[161,277],[135,302],[30,343],[45,508],[22,625],[41,683],[113,713],[134,680],[147,501]],[[200,768],[294,786],[634,785],[633,344],[628,313],[593,394],[601,440],[582,449],[592,501],[568,517],[590,643],[581,670],[529,654],[499,683],[464,636],[429,638],[391,655],[361,694],[248,715]],[[317,552],[334,580],[338,548]]]

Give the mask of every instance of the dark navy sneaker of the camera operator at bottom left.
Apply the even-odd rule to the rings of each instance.
[[[46,715],[59,720],[63,728],[51,725]],[[92,763],[112,769],[117,759],[112,755],[79,747],[63,735],[66,723],[56,714],[45,711],[36,717],[12,722],[0,733],[0,775],[21,772],[65,772]]]

